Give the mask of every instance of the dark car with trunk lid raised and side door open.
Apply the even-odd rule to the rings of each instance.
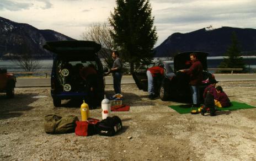
[[[147,68],[152,66],[163,66],[164,76],[154,78],[154,90],[156,94],[159,94],[161,100],[168,100],[171,98],[179,100],[189,100],[191,101],[191,91],[189,85],[189,76],[185,73],[179,72],[180,69],[188,69],[191,64],[190,53],[192,52],[182,52],[174,57],[173,61],[161,61],[153,63],[151,65],[140,66],[132,76],[134,77],[135,83],[139,89],[147,91]],[[207,78],[214,77],[213,74],[207,71],[207,55],[206,52],[195,51],[198,54],[198,59],[203,66],[203,77],[204,80]],[[199,87],[200,89],[200,100],[202,101],[202,94],[207,83],[202,83]]]

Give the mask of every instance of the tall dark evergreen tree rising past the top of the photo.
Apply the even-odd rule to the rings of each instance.
[[[153,47],[158,39],[154,17],[151,15],[149,0],[116,0],[117,6],[111,13],[110,31],[122,59],[130,63],[130,72],[134,65],[149,63],[154,57]]]

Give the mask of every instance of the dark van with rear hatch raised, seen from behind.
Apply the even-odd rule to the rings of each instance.
[[[99,106],[105,88],[104,69],[97,55],[101,45],[94,41],[48,41],[44,48],[54,52],[51,74],[54,106],[61,106],[63,99],[84,99],[90,108]],[[90,71],[86,70],[89,67]]]

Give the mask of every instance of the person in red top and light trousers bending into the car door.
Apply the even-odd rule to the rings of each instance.
[[[159,66],[155,66],[155,67],[151,67],[147,69],[147,80],[148,80],[148,94],[150,94],[148,96],[148,98],[150,99],[154,99],[155,98],[155,94],[154,94],[154,78],[156,79],[156,77],[161,77],[164,74],[164,69],[163,69],[163,65],[159,65]]]

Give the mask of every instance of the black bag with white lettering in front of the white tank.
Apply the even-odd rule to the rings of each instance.
[[[122,121],[118,116],[106,117],[96,124],[97,133],[103,136],[114,136],[122,129]]]

